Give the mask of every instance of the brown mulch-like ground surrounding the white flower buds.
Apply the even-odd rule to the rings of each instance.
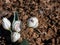
[[[0,30],[1,37],[4,37],[0,38],[0,44],[4,40],[4,45],[12,45],[11,41],[7,41],[9,39],[6,31],[2,31],[1,23],[3,17],[11,20],[14,11],[23,22],[18,42],[27,39],[30,45],[60,45],[60,0],[0,0]],[[27,26],[27,20],[32,16],[39,21],[35,29]]]

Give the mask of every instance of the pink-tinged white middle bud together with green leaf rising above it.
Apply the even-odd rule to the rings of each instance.
[[[14,12],[12,29],[14,31],[17,31],[17,32],[21,31],[21,21],[18,19],[18,13],[17,12]]]

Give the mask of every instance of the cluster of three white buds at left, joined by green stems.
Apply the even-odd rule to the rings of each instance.
[[[18,33],[18,32],[21,31],[21,21],[20,20],[15,20],[15,18],[16,17],[14,15],[14,20],[13,20],[13,23],[12,23],[12,29],[15,32],[12,32],[12,30],[11,30],[11,22],[6,17],[4,17],[2,19],[3,28],[6,29],[6,30],[11,31],[11,41],[12,42],[16,42],[21,37],[20,33]]]

